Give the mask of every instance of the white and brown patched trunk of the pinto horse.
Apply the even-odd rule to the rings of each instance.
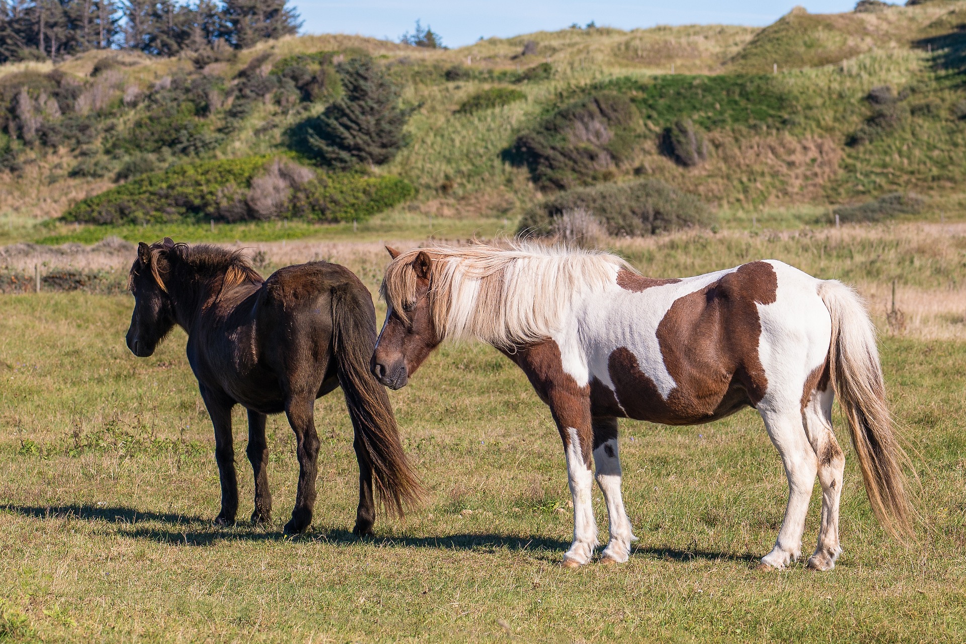
[[[596,336],[589,376],[641,420],[706,422],[756,406],[824,360],[829,317],[819,283],[777,261],[643,289],[618,279],[588,316],[599,333],[582,329]]]

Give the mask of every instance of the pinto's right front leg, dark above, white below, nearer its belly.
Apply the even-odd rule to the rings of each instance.
[[[622,564],[631,555],[631,543],[638,540],[631,532],[631,521],[624,511],[620,493],[620,456],[617,452],[617,419],[594,418],[594,464],[597,485],[604,492],[611,539],[601,552],[602,564]]]

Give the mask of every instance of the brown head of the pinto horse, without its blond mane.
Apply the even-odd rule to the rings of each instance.
[[[393,260],[399,251],[386,247]],[[429,292],[433,261],[419,251],[412,262],[386,270],[383,295],[388,311],[372,355],[372,373],[390,389],[406,386],[423,360],[439,346]]]

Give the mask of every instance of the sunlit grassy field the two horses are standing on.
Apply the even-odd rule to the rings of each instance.
[[[682,235],[621,252],[660,275],[747,254],[781,257],[865,283],[864,290],[888,282],[902,262],[918,262],[907,288],[948,292],[949,280],[963,277],[961,232],[915,230],[850,228],[838,241],[834,231]],[[272,262],[320,252],[293,241],[286,255],[279,244],[265,245]],[[370,245],[325,252],[374,288],[384,251]],[[836,570],[755,572],[774,543],[786,484],[760,419],[746,410],[703,427],[622,422],[625,500],[640,541],[626,566],[566,571],[556,565],[572,529],[559,438],[526,378],[497,351],[444,347],[392,394],[430,494],[405,521],[380,520],[370,541],[349,532],[356,475],[345,406],[338,392],[320,401],[314,528],[290,540],[281,525],[294,502],[297,463],[284,419],[269,424],[273,523],[214,528],[213,436],[185,336],[176,332],[155,356],[135,358],[123,340],[130,306],[126,295],[0,297],[0,639],[966,636],[966,343],[912,333],[883,342],[895,414],[920,453],[918,546],[885,538],[847,457],[845,551]],[[252,493],[242,419],[237,411],[240,517]],[[816,491],[805,550],[817,532],[818,501]],[[594,505],[606,537],[599,496]]]

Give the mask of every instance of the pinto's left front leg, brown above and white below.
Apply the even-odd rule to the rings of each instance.
[[[563,440],[567,458],[567,481],[574,500],[574,543],[563,555],[561,564],[577,568],[590,563],[597,541],[597,521],[594,520],[590,494],[594,477],[590,472],[590,453],[593,430],[590,423],[590,397],[586,393],[555,391],[548,396],[556,429]]]

